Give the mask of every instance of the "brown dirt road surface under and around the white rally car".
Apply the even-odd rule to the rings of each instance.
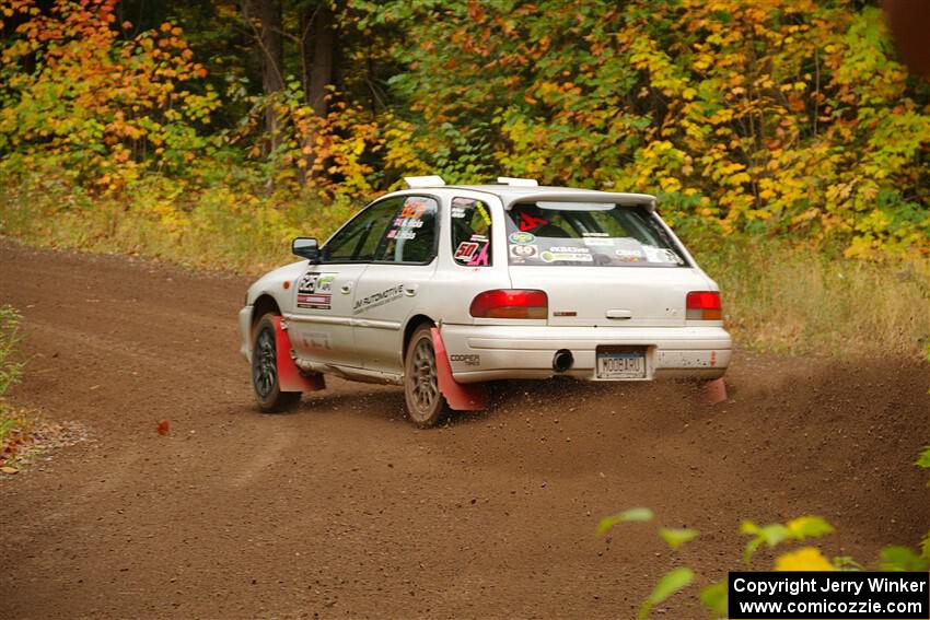
[[[818,514],[829,552],[870,561],[930,529],[918,362],[741,351],[713,408],[520,383],[431,431],[399,389],[336,379],[266,416],[237,353],[246,285],[0,241],[30,356],[11,399],[96,440],[0,480],[0,617],[631,618],[675,565],[739,569],[742,518]],[[675,554],[655,525],[594,536],[640,505],[704,535]],[[700,617],[689,599],[664,617]]]

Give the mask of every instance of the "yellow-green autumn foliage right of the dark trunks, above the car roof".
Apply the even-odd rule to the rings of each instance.
[[[451,176],[658,192],[679,225],[842,239],[858,256],[927,248],[928,91],[894,60],[877,9],[419,7],[380,19],[416,24],[403,52],[416,70],[397,87],[427,167],[445,148]]]

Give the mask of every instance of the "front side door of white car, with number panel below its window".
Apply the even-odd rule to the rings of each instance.
[[[319,262],[307,265],[292,283],[291,343],[299,356],[362,367],[353,329],[357,288],[402,201],[367,207],[321,248]]]

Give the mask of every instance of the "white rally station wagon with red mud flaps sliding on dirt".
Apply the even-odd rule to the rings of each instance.
[[[431,425],[475,410],[485,382],[720,377],[730,363],[718,286],[655,198],[410,177],[303,260],[249,289],[242,353],[277,411],[324,374],[404,386]]]

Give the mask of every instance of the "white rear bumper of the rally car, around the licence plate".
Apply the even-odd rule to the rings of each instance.
[[[646,379],[718,378],[730,364],[732,340],[722,327],[549,327],[443,325],[452,374],[460,383],[542,379],[565,375],[598,379],[598,346],[646,347]],[[556,351],[574,358],[562,373],[553,369]],[[636,379],[643,381],[643,379]]]

